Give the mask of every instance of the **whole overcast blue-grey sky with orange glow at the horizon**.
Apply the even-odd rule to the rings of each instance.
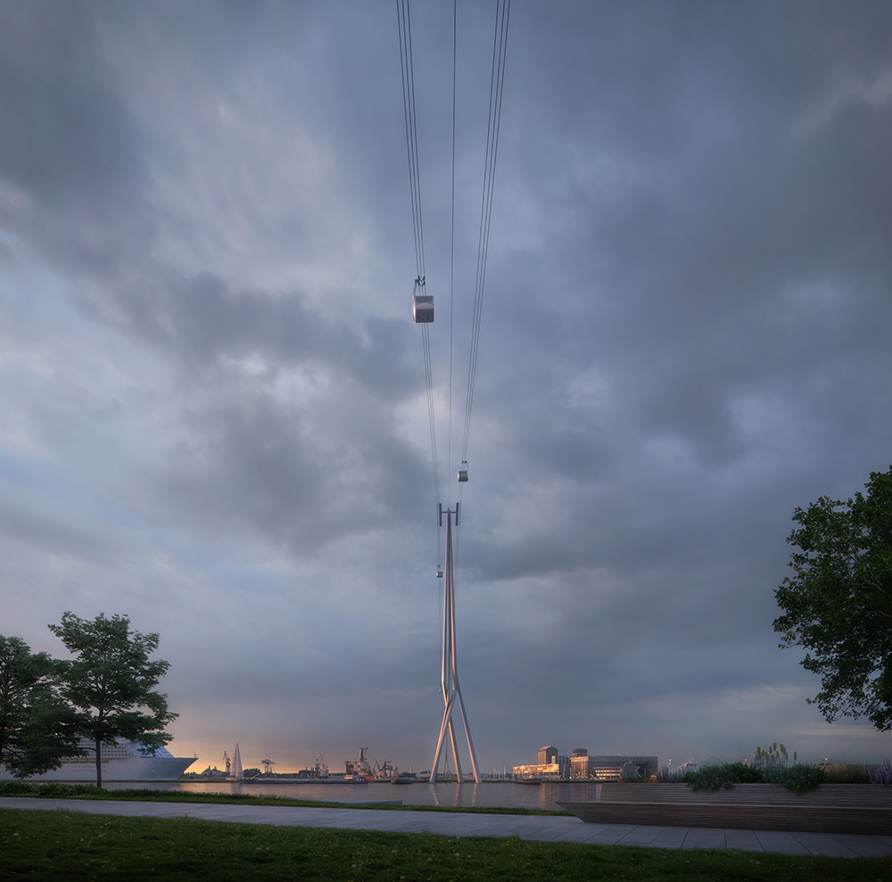
[[[412,4],[442,501],[495,6]],[[892,4],[515,0],[456,602],[484,769],[880,761],[780,650],[892,463]],[[0,632],[161,634],[178,755],[430,768],[436,500],[392,0],[0,2]]]

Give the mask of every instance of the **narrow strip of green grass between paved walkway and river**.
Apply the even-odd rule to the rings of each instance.
[[[186,790],[140,790],[128,787],[121,790],[104,790],[92,784],[36,784],[31,781],[0,781],[0,796],[37,796],[41,799],[111,799],[146,803],[207,803],[211,805],[301,805],[322,808],[378,809],[385,812],[470,812],[474,814],[536,814],[566,815],[571,812],[552,812],[548,809],[527,809],[517,806],[506,808],[455,808],[450,805],[369,805],[322,802],[316,799],[288,799],[285,796],[256,796],[235,793],[195,793]],[[374,797],[370,796],[370,799]],[[394,796],[394,798],[397,798]]]

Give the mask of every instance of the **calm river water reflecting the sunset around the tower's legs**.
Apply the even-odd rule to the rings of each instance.
[[[597,784],[515,784],[511,781],[483,784],[312,784],[310,782],[229,783],[226,781],[109,781],[109,790],[138,787],[145,790],[175,790],[186,793],[245,793],[258,796],[282,796],[287,799],[322,799],[331,802],[359,799],[401,799],[403,805],[440,805],[456,808],[523,807],[560,811],[557,800],[594,800]]]

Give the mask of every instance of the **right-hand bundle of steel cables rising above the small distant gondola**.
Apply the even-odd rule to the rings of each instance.
[[[483,199],[480,208],[480,234],[477,240],[477,272],[474,309],[471,326],[471,351],[467,365],[467,395],[465,404],[465,432],[461,457],[467,459],[467,444],[471,431],[471,411],[474,406],[474,385],[477,372],[477,351],[480,343],[480,322],[483,314],[483,285],[486,280],[486,260],[490,243],[492,194],[499,154],[502,93],[505,87],[505,61],[508,54],[508,20],[511,0],[497,0],[496,26],[492,40],[492,70],[490,77],[490,108],[486,132],[486,158],[483,170]]]

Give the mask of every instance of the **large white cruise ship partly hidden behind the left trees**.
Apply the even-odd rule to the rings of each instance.
[[[62,766],[43,775],[32,775],[29,781],[95,781],[96,762],[93,744],[80,739],[85,756],[66,756]],[[174,756],[166,747],[144,756],[135,741],[118,740],[102,748],[103,781],[175,781],[195,762],[192,756]],[[0,780],[12,776],[0,766]]]

